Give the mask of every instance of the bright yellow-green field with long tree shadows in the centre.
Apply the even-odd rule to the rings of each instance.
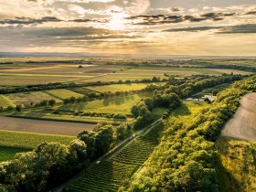
[[[59,111],[68,112],[99,112],[99,113],[123,113],[131,114],[133,105],[137,104],[145,97],[152,96],[151,93],[133,94],[109,99],[80,102],[69,105],[56,106]]]

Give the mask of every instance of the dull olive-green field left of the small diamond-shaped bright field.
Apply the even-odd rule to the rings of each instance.
[[[30,105],[30,103],[35,104],[44,100],[60,101],[58,98],[53,97],[44,91],[12,93],[7,94],[6,98],[16,103],[16,105]]]

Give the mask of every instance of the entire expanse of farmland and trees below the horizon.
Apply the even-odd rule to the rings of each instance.
[[[255,72],[255,59],[0,58],[0,191],[253,191]]]

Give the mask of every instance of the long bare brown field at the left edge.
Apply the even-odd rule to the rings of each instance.
[[[16,132],[49,133],[75,136],[84,130],[91,131],[94,126],[95,124],[91,123],[69,123],[0,117],[0,130]]]

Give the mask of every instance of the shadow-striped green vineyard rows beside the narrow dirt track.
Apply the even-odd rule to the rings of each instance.
[[[71,183],[64,191],[117,191],[125,181],[129,181],[138,168],[147,160],[158,144],[162,125],[157,125],[145,135],[124,146],[120,153],[93,165],[86,173]]]

